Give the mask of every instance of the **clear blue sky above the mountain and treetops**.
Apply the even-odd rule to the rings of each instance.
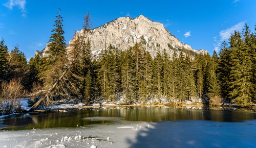
[[[254,32],[255,0],[212,1],[66,1],[0,0],[0,37],[11,50],[16,44],[27,58],[42,50],[54,28],[58,8],[62,9],[67,43],[82,28],[87,11],[93,28],[118,17],[140,14],[164,24],[182,42],[210,54],[219,49],[234,30],[246,22]]]

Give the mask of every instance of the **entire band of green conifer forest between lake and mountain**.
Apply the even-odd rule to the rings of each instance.
[[[235,103],[247,107],[255,102],[256,34],[245,24],[243,31],[234,31],[223,42],[219,55],[190,54],[174,49],[172,57],[158,50],[153,57],[137,42],[128,49],[105,45],[97,58],[87,36],[74,36],[65,42],[63,20],[56,16],[46,56],[36,54],[27,63],[23,52],[15,46],[8,52],[0,42],[1,100],[5,100],[9,84],[16,83],[24,94],[36,102],[59,80],[47,96],[45,105],[70,98],[74,102],[92,104],[100,99],[114,102],[123,98],[126,104],[147,103],[152,98],[181,102],[200,98],[212,106]],[[91,30],[89,13],[84,16],[83,31]],[[256,30],[256,28],[255,28]],[[10,88],[7,89],[7,86]],[[4,91],[5,90],[5,91]],[[9,91],[10,93],[11,91]],[[8,97],[9,98],[9,97]]]

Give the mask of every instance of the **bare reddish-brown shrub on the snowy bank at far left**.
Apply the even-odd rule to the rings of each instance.
[[[19,80],[11,80],[9,83],[3,82],[0,89],[1,112],[11,114],[20,108],[19,98],[26,95],[26,91]]]

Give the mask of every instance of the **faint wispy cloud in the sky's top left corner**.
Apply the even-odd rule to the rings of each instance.
[[[22,11],[22,16],[26,17],[26,0],[8,0],[8,2],[3,4],[5,7],[9,8],[10,10],[13,9],[13,7],[18,7]]]

